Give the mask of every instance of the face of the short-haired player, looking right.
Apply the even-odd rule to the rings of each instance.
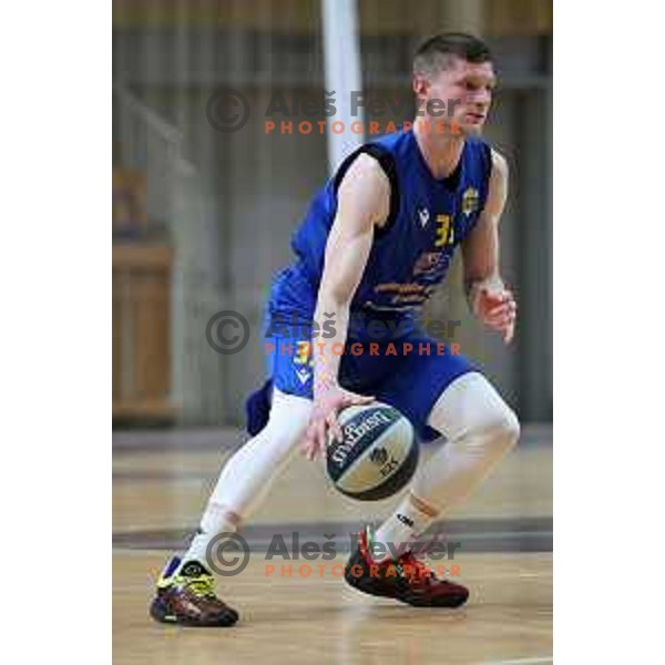
[[[480,134],[492,103],[495,83],[491,62],[474,64],[453,58],[448,69],[429,80],[417,74],[413,88],[424,104],[430,100],[430,105],[433,100],[440,100],[439,108],[441,102],[446,104],[446,112],[432,120],[446,120],[447,123],[454,121],[463,134]],[[426,111],[427,106],[421,105],[420,109]]]

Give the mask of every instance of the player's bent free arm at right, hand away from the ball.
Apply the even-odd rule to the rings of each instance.
[[[508,164],[492,151],[492,174],[485,206],[462,244],[464,289],[471,311],[510,342],[516,303],[499,274],[499,222],[508,197]]]

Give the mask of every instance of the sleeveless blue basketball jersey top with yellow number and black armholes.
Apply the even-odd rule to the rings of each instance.
[[[434,178],[412,131],[388,134],[349,155],[314,197],[291,246],[296,260],[273,287],[270,314],[310,319],[324,269],[326,242],[337,212],[337,191],[354,160],[368,153],[379,161],[391,188],[390,214],[375,238],[351,315],[416,319],[448,272],[456,247],[484,207],[491,151],[469,137],[456,172]]]

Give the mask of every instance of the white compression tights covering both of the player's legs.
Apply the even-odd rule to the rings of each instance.
[[[268,423],[226,462],[185,559],[204,562],[209,540],[235,531],[258,507],[297,450],[310,411],[309,400],[274,391]],[[477,372],[441,393],[428,422],[448,441],[418,470],[407,497],[377,531],[379,542],[405,542],[427,529],[473,490],[519,436],[514,413]],[[408,515],[411,526],[398,514]]]

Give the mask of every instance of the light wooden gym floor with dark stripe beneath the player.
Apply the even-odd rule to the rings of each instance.
[[[243,436],[115,432],[114,663],[551,663],[551,430],[524,430],[518,450],[437,529],[461,543],[454,563],[471,591],[466,607],[413,608],[348,587],[334,569],[346,562],[348,534],[364,520],[380,521],[395,500],[347,500],[327,485],[320,466],[296,457],[243,530],[252,546],[247,567],[218,584],[241,613],[231,630],[157,625],[147,606],[165,557],[196,526],[223,460]],[[427,458],[431,448],[423,452]],[[268,575],[266,544],[274,534],[289,543],[294,531],[319,543],[335,534],[336,559],[294,561],[290,577],[280,571],[289,562],[278,559]],[[299,574],[305,563],[308,577],[306,569]]]

